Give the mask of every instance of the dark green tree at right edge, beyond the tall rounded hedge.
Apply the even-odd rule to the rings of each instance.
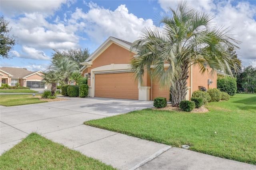
[[[256,92],[256,67],[252,65],[245,67],[237,79],[238,91],[242,92]]]

